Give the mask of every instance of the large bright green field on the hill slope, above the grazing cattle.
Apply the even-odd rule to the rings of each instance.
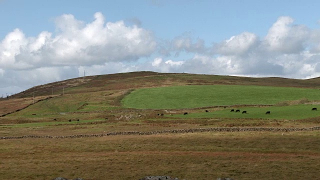
[[[194,108],[234,104],[275,104],[285,100],[320,99],[312,88],[256,85],[188,85],[142,88],[122,99],[130,108]]]

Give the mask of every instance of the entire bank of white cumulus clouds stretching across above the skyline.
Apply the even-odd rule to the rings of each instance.
[[[212,45],[188,32],[159,39],[140,27],[139,19],[132,22],[108,22],[96,12],[91,22],[62,14],[55,18],[54,32],[42,31],[34,37],[13,29],[0,41],[0,91],[18,92],[82,76],[83,70],[86,75],[140,70],[289,78],[320,75],[320,29],[294,24],[289,16],[276,19],[264,37],[245,31]]]

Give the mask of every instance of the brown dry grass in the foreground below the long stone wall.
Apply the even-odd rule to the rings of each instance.
[[[212,132],[1,140],[0,174],[1,179],[317,178],[318,135]]]

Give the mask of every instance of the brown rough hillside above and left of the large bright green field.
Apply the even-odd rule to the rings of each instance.
[[[85,76],[84,79],[83,77],[78,77],[37,85],[20,93],[14,94],[12,98],[1,99],[0,114],[14,112],[32,104],[34,101],[37,102],[38,100],[62,94],[65,95],[63,101],[67,101],[69,103],[68,106],[73,105],[73,107],[57,107],[58,105],[51,104],[50,108],[56,109],[57,111],[77,111],[78,108],[81,108],[81,105],[90,102],[93,106],[94,103],[103,103],[102,105],[100,104],[99,107],[95,106],[96,109],[93,106],[91,108],[92,110],[101,110],[120,107],[121,98],[127,94],[130,89],[214,84],[319,88],[320,78],[255,78],[227,75],[159,73],[151,71],[93,75]],[[62,102],[55,103],[63,104]],[[43,110],[45,111],[45,109]],[[37,111],[41,111],[41,107],[39,107]]]

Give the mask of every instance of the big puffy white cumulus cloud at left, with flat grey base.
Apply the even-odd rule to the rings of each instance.
[[[1,67],[28,69],[40,66],[103,64],[109,61],[135,61],[155,49],[152,33],[123,21],[104,22],[100,12],[84,23],[71,14],[55,19],[56,32],[43,31],[25,37],[14,29],[0,44]]]

